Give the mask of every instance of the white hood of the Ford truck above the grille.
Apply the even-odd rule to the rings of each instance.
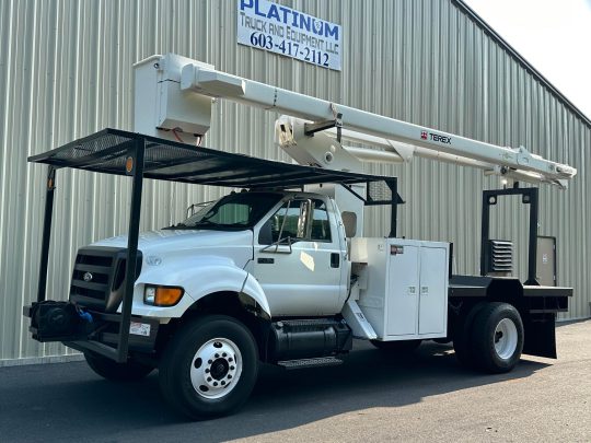
[[[127,247],[127,235],[101,240],[91,246]],[[253,256],[253,232],[212,230],[158,230],[139,235],[143,260],[170,257],[218,256],[231,258],[242,268]]]

